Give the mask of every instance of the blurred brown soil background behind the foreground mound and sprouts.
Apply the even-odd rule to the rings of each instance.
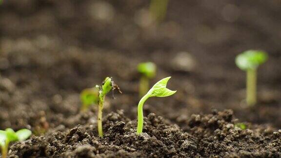
[[[124,94],[105,113],[135,119],[143,61],[172,76],[173,97],[150,99],[150,112],[184,124],[191,114],[233,109],[241,121],[281,127],[281,0],[169,0],[155,23],[150,0],[2,0],[0,128],[82,124],[79,94],[112,76]],[[235,57],[267,51],[254,109],[244,106],[245,72]],[[81,119],[82,118],[82,119]]]

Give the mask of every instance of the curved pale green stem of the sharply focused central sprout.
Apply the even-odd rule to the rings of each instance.
[[[143,126],[143,112],[142,112],[142,107],[144,102],[149,98],[150,93],[148,92],[146,95],[144,95],[139,104],[138,104],[138,128],[137,128],[137,134],[142,133],[142,126]]]

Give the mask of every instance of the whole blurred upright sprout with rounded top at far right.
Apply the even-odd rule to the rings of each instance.
[[[248,50],[236,57],[236,65],[247,72],[246,102],[249,106],[257,103],[257,69],[267,58],[265,52],[257,50]]]

